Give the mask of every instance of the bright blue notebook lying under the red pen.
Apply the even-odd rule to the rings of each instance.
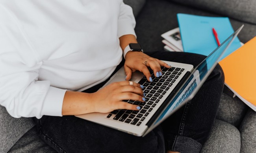
[[[212,28],[217,31],[220,43],[223,43],[234,30],[227,17],[208,17],[177,14],[184,52],[208,56],[218,47]],[[241,47],[236,37],[221,60]]]

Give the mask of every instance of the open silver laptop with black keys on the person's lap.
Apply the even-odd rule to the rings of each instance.
[[[171,64],[171,68],[162,67],[163,75],[158,78],[150,70],[153,79],[152,82],[148,82],[147,78],[141,72],[133,73],[130,81],[144,86],[143,92],[146,94],[146,101],[123,101],[139,105],[141,107],[140,110],[119,109],[110,113],[88,113],[76,115],[76,117],[138,137],[144,137],[195,96],[206,78],[217,65],[218,60],[242,28],[243,26],[237,29],[236,32],[229,36],[195,68],[189,64],[164,61],[167,64]],[[124,81],[125,76],[124,68],[122,67],[104,86],[112,82]]]

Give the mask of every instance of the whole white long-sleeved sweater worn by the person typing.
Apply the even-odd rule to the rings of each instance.
[[[134,27],[122,0],[0,0],[0,104],[13,117],[62,116],[66,90],[106,80]]]

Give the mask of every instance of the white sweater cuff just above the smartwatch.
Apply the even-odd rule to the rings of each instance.
[[[134,35],[137,38],[134,31],[134,26],[130,22],[131,22],[130,20],[119,21],[118,31],[117,31],[118,38],[120,38],[123,35]]]

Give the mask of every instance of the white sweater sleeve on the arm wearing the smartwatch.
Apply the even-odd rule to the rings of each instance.
[[[135,18],[132,12],[132,7],[129,5],[121,3],[120,6],[120,15],[118,18],[118,31],[117,36],[121,37],[123,35],[132,34],[136,36],[134,28],[135,28]]]

